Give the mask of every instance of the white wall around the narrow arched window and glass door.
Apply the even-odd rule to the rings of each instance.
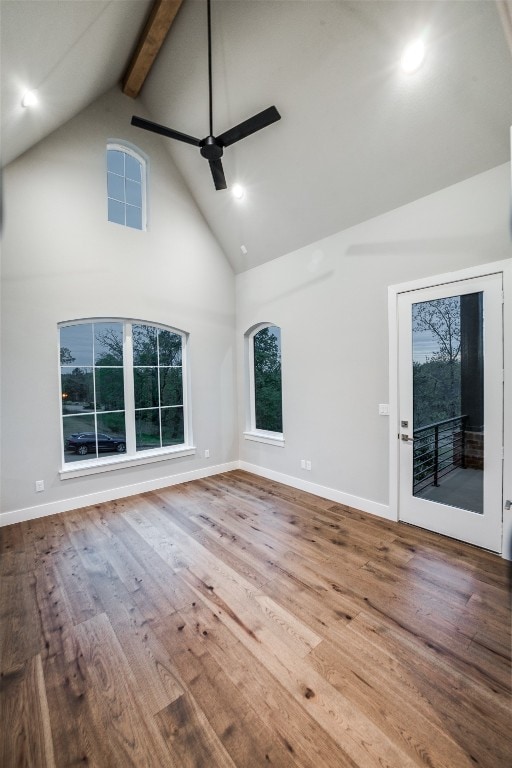
[[[243,334],[271,321],[282,331],[285,436],[284,448],[241,437],[243,464],[394,517],[389,422],[378,415],[390,397],[387,288],[510,257],[509,222],[505,164],[238,275],[239,422]]]

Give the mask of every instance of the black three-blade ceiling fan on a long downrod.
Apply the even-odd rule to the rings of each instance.
[[[263,112],[258,112],[257,115],[253,115],[248,120],[244,120],[242,123],[235,125],[234,128],[230,128],[228,131],[224,131],[220,136],[213,135],[213,107],[212,107],[212,33],[211,33],[211,8],[210,0],[207,0],[208,9],[208,90],[209,90],[209,116],[210,116],[210,133],[204,139],[196,139],[194,136],[188,136],[186,133],[180,133],[172,128],[167,128],[165,125],[159,123],[153,123],[151,120],[145,120],[143,117],[137,117],[133,115],[131,124],[137,128],[144,128],[146,131],[153,131],[153,133],[159,133],[162,136],[167,136],[170,139],[177,139],[177,141],[183,141],[186,144],[193,144],[195,147],[200,147],[201,155],[205,157],[212,172],[213,182],[215,189],[227,189],[226,177],[224,176],[224,169],[222,167],[221,157],[224,153],[224,147],[229,147],[231,144],[245,139],[250,136],[251,133],[266,128],[267,125],[275,123],[281,119],[281,115],[275,107],[268,107]]]

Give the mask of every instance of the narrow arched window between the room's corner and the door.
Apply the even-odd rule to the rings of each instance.
[[[245,436],[283,444],[281,329],[260,323],[245,334],[247,418]]]

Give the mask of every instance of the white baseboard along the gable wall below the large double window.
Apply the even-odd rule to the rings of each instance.
[[[69,512],[72,509],[81,509],[90,507],[93,504],[101,504],[104,501],[115,501],[116,499],[126,498],[127,496],[136,496],[138,493],[146,491],[156,491],[159,488],[167,488],[170,485],[187,483],[189,480],[200,480],[203,477],[218,475],[221,472],[230,472],[239,468],[238,461],[231,461],[225,464],[217,464],[213,467],[203,467],[194,469],[191,472],[182,472],[178,475],[169,475],[167,477],[158,477],[155,480],[147,480],[143,483],[134,483],[133,485],[123,485],[120,488],[110,488],[106,491],[89,493],[86,496],[75,496],[71,499],[62,499],[60,501],[50,501],[47,504],[38,504],[35,507],[25,507],[11,512],[0,514],[0,527],[11,525],[12,523],[21,523],[25,520],[35,520],[38,517],[55,515],[60,512]]]

